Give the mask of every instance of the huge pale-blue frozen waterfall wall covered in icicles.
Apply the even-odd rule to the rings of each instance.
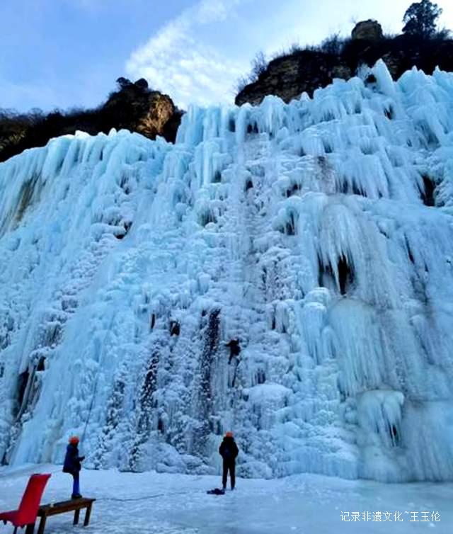
[[[0,459],[453,479],[453,74],[0,164]]]

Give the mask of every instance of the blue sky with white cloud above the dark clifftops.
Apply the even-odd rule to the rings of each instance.
[[[0,0],[0,107],[91,107],[141,77],[181,108],[234,101],[256,52],[349,35],[375,18],[401,31],[409,0]],[[452,0],[437,0],[453,29]]]

